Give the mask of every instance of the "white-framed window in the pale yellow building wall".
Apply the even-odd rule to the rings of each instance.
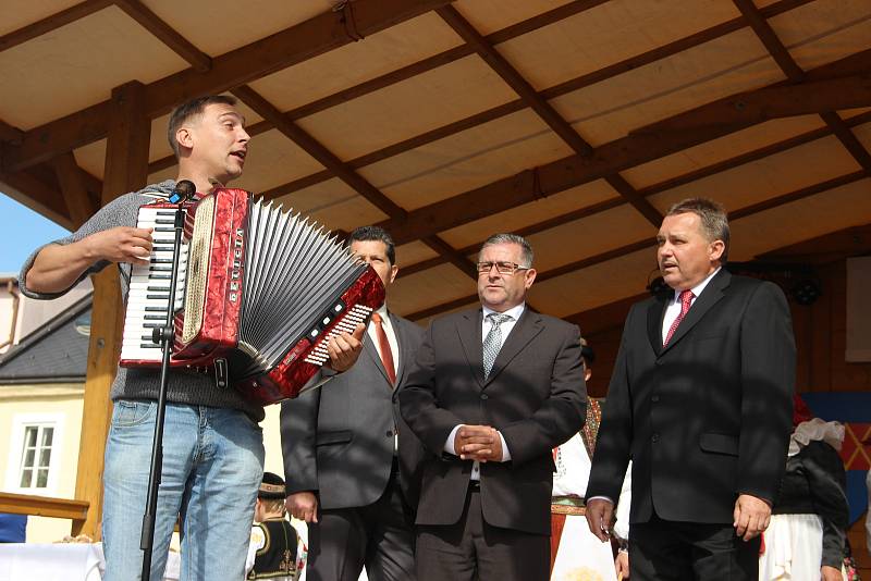
[[[62,413],[13,416],[5,490],[49,496],[57,493],[63,423]]]

